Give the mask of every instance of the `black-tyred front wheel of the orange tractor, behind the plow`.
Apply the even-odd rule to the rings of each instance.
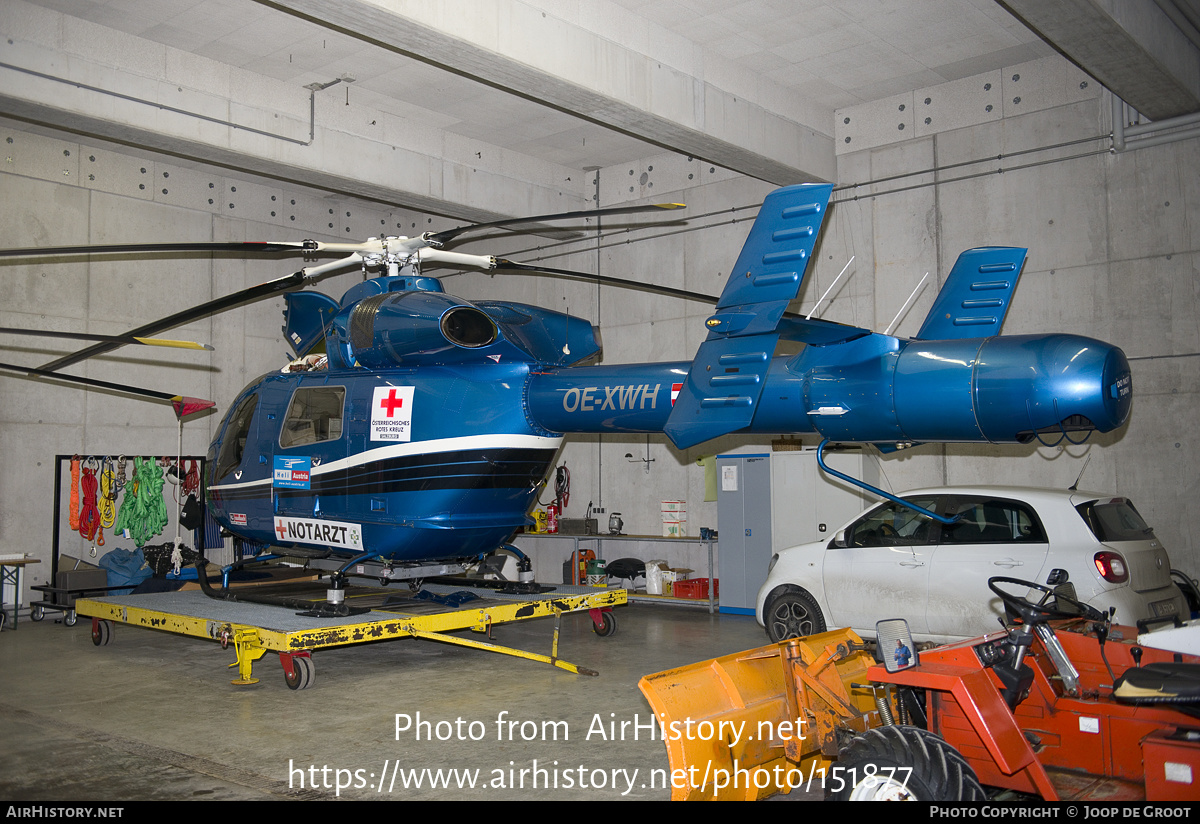
[[[959,751],[918,727],[869,729],[841,748],[833,769],[834,801],[988,800]]]

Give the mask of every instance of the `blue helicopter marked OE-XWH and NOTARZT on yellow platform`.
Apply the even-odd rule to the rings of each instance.
[[[530,523],[570,433],[666,433],[680,449],[734,432],[816,433],[822,447],[840,441],[894,450],[1074,440],[1124,423],[1132,384],[1118,348],[1073,335],[1000,336],[1024,248],[964,252],[913,338],[788,313],[830,193],[829,185],[798,185],[769,194],[720,296],[444,248],[472,229],[564,217],[541,216],[365,243],[186,245],[349,257],[130,336],[287,293],[283,331],[295,360],[228,407],[209,450],[208,504],[248,543],[346,559],[337,575],[373,559],[388,577],[420,578],[431,563],[503,547]],[[424,264],[586,277],[709,300],[716,308],[691,361],[587,365],[600,354],[587,320],[455,297],[421,273]],[[382,273],[341,300],[296,291],[347,266]],[[780,341],[805,345],[798,355],[776,356]],[[36,371],[0,368],[58,377],[64,366],[116,345],[97,342]],[[158,395],[179,411],[181,398]]]

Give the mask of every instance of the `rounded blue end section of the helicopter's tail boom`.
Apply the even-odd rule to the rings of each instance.
[[[1014,391],[1024,385],[1025,391]],[[988,341],[976,367],[976,414],[990,440],[1111,432],[1129,417],[1133,381],[1121,349],[1075,335]],[[1020,422],[1013,432],[1014,422]]]

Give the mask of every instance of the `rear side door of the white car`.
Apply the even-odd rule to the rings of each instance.
[[[1045,530],[1028,504],[990,495],[953,495],[929,577],[929,632],[973,637],[1000,628],[1004,607],[988,588],[994,576],[1042,581]]]

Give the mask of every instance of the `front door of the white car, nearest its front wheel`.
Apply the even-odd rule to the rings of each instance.
[[[937,498],[913,503],[936,511]],[[914,633],[925,632],[929,571],[937,523],[916,510],[882,504],[842,530],[822,561],[828,626],[875,633],[875,622],[904,618]]]

